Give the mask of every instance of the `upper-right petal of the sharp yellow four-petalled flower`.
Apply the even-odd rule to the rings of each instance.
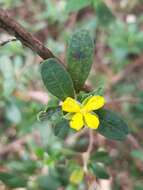
[[[105,99],[103,96],[92,96],[89,98],[85,106],[83,106],[83,109],[86,110],[86,112],[90,112],[93,110],[97,110],[104,106],[105,104]]]

